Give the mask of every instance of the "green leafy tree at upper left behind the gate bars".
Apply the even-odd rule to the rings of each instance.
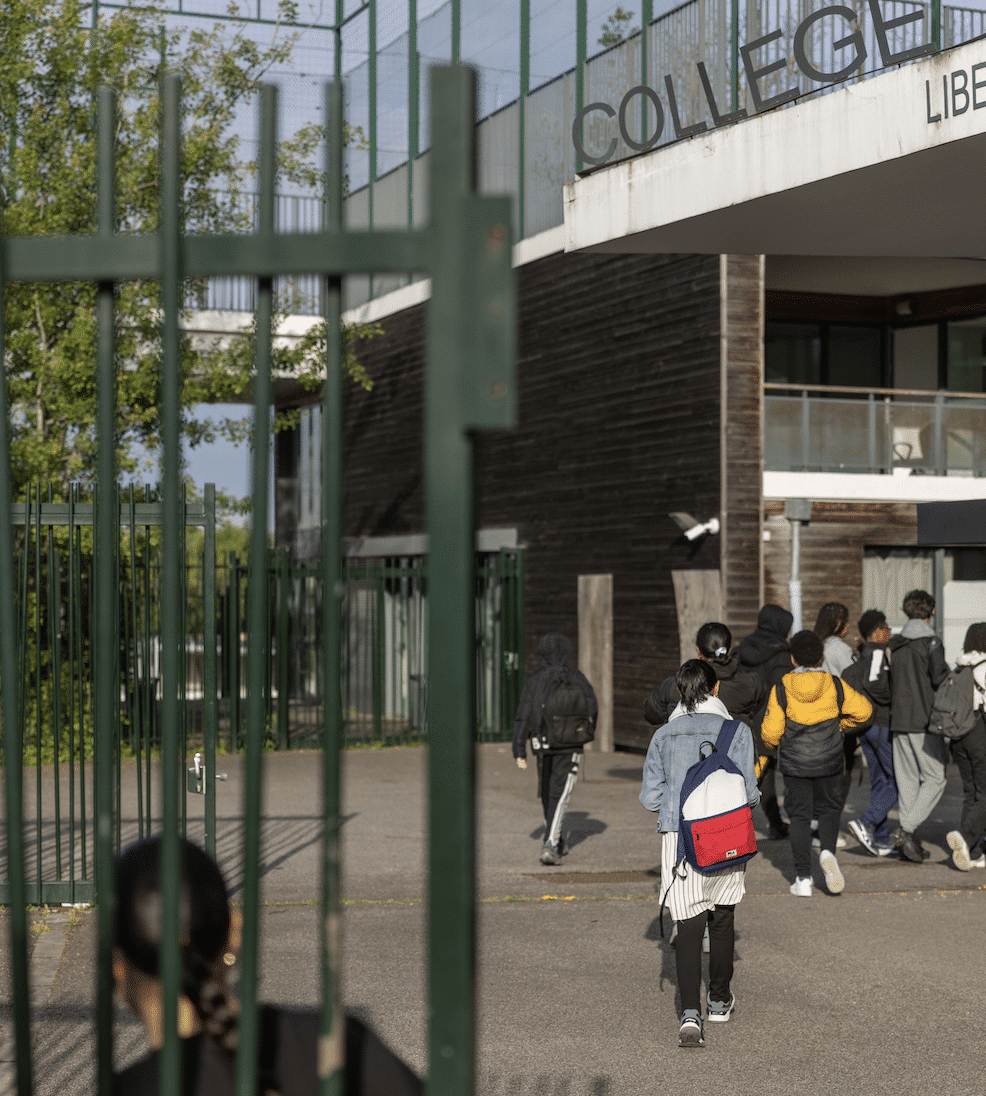
[[[236,9],[233,9],[234,11]],[[249,231],[245,162],[236,118],[273,66],[289,62],[300,32],[288,26],[297,12],[282,0],[283,25],[260,46],[237,24],[164,30],[160,14],[134,8],[103,13],[91,24],[80,0],[4,0],[0,19],[0,209],[5,236],[84,233],[95,229],[95,95],[108,84],[117,93],[117,229],[158,229],[160,104],[164,68],[182,76],[181,171],[186,232]],[[313,167],[322,134],[310,126],[283,142],[282,178],[314,187]],[[359,140],[357,132],[349,139]],[[190,298],[196,292],[188,286]],[[31,482],[54,486],[65,498],[71,481],[94,477],[95,286],[91,283],[14,284],[7,287],[4,362],[12,411],[15,490]],[[131,282],[116,288],[117,447],[122,470],[134,473],[142,450],[158,442],[160,403],[159,287]],[[351,341],[376,329],[349,332]],[[317,326],[277,367],[299,374],[314,388],[321,379]],[[249,339],[227,346],[182,352],[182,400],[229,402],[246,388],[252,369]],[[349,353],[346,369],[364,387],[369,379]],[[241,437],[242,422],[221,427]],[[213,427],[186,416],[190,444]]]

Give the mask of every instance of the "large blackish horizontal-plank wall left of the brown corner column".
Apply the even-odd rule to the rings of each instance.
[[[668,517],[720,510],[718,255],[552,255],[517,271],[518,427],[477,438],[477,521],[527,547],[537,638],[575,639],[580,574],[614,575],[617,741],[645,745],[641,703],[678,664],[670,571],[718,568],[718,538]],[[346,533],[424,527],[424,308],[359,349],[372,391],[347,408]]]

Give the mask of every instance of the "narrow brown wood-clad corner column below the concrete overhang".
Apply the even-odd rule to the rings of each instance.
[[[763,605],[764,259],[723,255],[722,536],[723,619],[736,639]]]

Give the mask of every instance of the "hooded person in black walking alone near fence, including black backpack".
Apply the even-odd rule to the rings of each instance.
[[[572,798],[582,747],[595,737],[598,705],[584,674],[572,670],[572,642],[557,631],[538,643],[541,667],[528,675],[514,722],[514,757],[527,768],[527,740],[538,762],[544,811],[541,864],[561,864],[566,848],[561,826]]]

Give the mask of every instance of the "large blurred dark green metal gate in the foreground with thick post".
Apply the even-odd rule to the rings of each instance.
[[[98,481],[113,484],[116,469],[115,284],[141,279],[160,286],[161,307],[161,589],[181,589],[185,515],[181,495],[180,317],[187,278],[248,276],[257,283],[255,400],[252,437],[254,514],[268,509],[271,441],[271,364],[274,278],[282,274],[323,277],[326,330],[323,396],[323,506],[320,613],[324,706],[322,741],[324,840],[320,1087],[343,1091],[343,1025],[339,1023],[340,946],[340,765],[343,742],[341,664],[342,584],[342,275],[422,270],[432,277],[428,352],[425,370],[425,499],[429,534],[427,637],[432,671],[427,682],[429,751],[428,836],[428,1082],[429,1093],[467,1094],[474,1080],[474,752],[475,752],[475,559],[472,434],[514,424],[514,285],[511,265],[511,208],[503,198],[475,194],[474,75],[465,69],[433,72],[429,172],[432,219],[426,228],[401,231],[345,231],[342,226],[342,93],[337,84],[325,100],[326,179],[321,232],[274,231],[276,92],[261,95],[260,217],[251,236],[184,236],[182,226],[181,88],[168,77],[162,88],[161,218],[153,236],[121,235],[115,217],[114,96],[99,95],[96,231],[91,236],[0,239],[0,295],[10,282],[89,281],[98,285],[95,387],[99,438]],[[0,361],[4,359],[0,309]],[[13,550],[13,482],[10,466],[10,408],[0,385],[0,619],[18,619],[16,559]],[[112,1084],[112,947],[114,936],[113,859],[118,837],[114,768],[116,728],[122,719],[119,637],[124,609],[115,596],[121,567],[119,511],[112,490],[93,512],[91,628],[93,633],[93,772],[95,812],[94,871],[99,902],[96,994],[98,1091]],[[251,534],[250,581],[245,596],[246,690],[242,704],[245,746],[242,849],[244,879],[241,951],[239,1052],[236,1091],[254,1096],[259,1012],[259,886],[266,734],[265,678],[270,666],[267,546],[263,522]],[[53,572],[54,573],[54,572]],[[206,582],[215,570],[205,568]],[[206,603],[215,591],[204,591]],[[26,602],[24,602],[26,606]],[[161,870],[179,875],[177,837],[182,827],[182,600],[161,602]],[[13,628],[0,633],[5,836],[9,867],[11,986],[19,1096],[33,1092],[30,1029],[23,795],[24,718],[21,660],[25,649]],[[215,684],[206,686],[215,696]],[[206,791],[215,778],[206,758]],[[179,887],[162,888],[160,971],[164,1047],[160,1089],[181,1092],[176,1013],[180,978]]]

